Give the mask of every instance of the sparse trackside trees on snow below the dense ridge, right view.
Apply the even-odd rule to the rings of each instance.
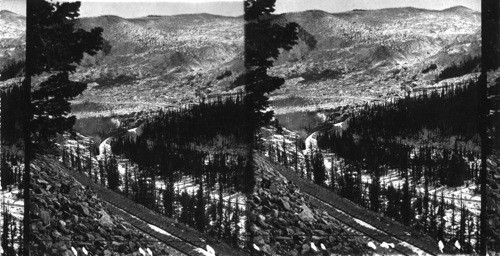
[[[479,166],[477,163],[468,165],[466,157],[461,153],[463,149],[443,150],[447,152],[444,153],[445,158],[440,156],[436,159],[426,159],[425,156],[430,156],[430,152],[437,152],[426,147],[413,159],[399,158],[399,166],[395,164],[397,160],[393,159],[391,164],[375,162],[379,161],[374,160],[377,156],[367,160],[366,157],[370,157],[370,154],[356,156],[357,160],[344,159],[334,154],[331,159],[332,167],[329,169],[325,167],[320,149],[310,149],[301,161],[298,154],[293,153],[293,148],[300,148],[300,145],[292,149],[287,147],[291,146],[287,146],[285,142],[270,143],[267,154],[272,160],[295,169],[303,178],[328,187],[333,193],[443,241],[447,245],[448,253],[472,253],[473,249],[478,250],[478,216],[466,209],[464,204],[458,207],[453,201],[446,202],[443,194],[441,198],[436,194],[436,188],[446,182],[463,184],[465,177],[475,177],[474,180],[478,182]],[[400,155],[409,157],[409,154]],[[477,159],[478,156],[475,157]],[[422,165],[424,160],[429,165]],[[397,187],[381,181],[382,176],[388,175],[389,169],[395,169],[404,179]],[[362,176],[366,173],[369,174],[371,182],[363,181]],[[417,191],[419,184],[424,187],[423,193]],[[456,185],[458,186],[458,183]],[[434,187],[432,195],[429,193],[430,186]],[[457,198],[455,202],[458,200]],[[451,219],[445,218],[446,210],[452,211]],[[455,251],[455,241],[459,241],[462,246],[460,251]]]

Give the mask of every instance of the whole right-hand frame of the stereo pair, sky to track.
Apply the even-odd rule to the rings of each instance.
[[[266,69],[284,83],[256,157],[261,251],[478,253],[480,2],[279,2],[269,26],[296,34]]]

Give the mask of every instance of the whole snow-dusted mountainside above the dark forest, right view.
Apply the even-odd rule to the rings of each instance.
[[[469,74],[479,63],[480,18],[480,13],[465,7],[276,16],[275,22],[297,22],[313,37],[301,37],[299,45],[275,63],[273,72],[288,79],[273,99],[302,98],[301,106],[276,111],[333,108],[404,95],[408,86],[434,84],[447,77],[440,75],[450,66],[472,59],[472,67],[458,76]],[[307,41],[316,44],[305,47]]]

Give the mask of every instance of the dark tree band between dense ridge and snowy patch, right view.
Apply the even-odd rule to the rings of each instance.
[[[448,149],[433,145],[410,146],[402,141],[381,143],[367,137],[354,138],[347,133],[319,138],[320,148],[328,149],[347,165],[366,169],[370,174],[385,176],[389,169],[395,169],[401,177],[409,172],[412,182],[417,184],[422,183],[425,174],[432,186],[458,187],[466,180],[479,182],[479,152],[464,146]]]

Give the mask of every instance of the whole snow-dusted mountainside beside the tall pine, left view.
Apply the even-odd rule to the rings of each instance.
[[[86,56],[76,72],[91,84],[80,102],[134,110],[189,104],[227,91],[244,71],[242,17],[100,16],[78,26],[102,27],[111,46],[107,54]]]

